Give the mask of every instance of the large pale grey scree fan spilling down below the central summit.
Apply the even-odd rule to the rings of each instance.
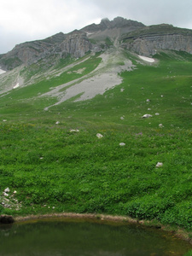
[[[131,71],[134,66],[132,62],[120,54],[119,49],[110,49],[102,54],[102,62],[96,69],[85,75],[83,78],[73,80],[67,84],[61,84],[42,96],[57,97],[58,102],[50,107],[61,104],[74,96],[78,96],[73,102],[90,100],[96,95],[103,95],[106,90],[112,89],[115,85],[121,84],[122,79],[119,73]],[[68,87],[70,85],[70,87]],[[63,90],[67,87],[66,90]]]

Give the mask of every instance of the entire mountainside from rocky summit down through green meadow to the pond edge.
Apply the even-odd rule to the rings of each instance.
[[[0,67],[0,214],[104,213],[191,238],[191,30],[104,19]]]

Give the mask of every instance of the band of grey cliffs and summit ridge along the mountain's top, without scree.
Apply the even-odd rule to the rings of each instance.
[[[145,26],[141,22],[117,17],[103,19],[68,34],[62,32],[44,40],[18,44],[0,55],[0,67],[12,70],[37,61],[55,63],[67,55],[79,58],[88,51],[104,51],[110,47],[128,49],[138,55],[151,56],[160,49],[183,50],[192,54],[192,31],[171,25]],[[50,61],[48,61],[50,60]]]

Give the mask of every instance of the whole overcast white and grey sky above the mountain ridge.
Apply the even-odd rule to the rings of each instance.
[[[192,29],[192,0],[0,0],[0,54],[117,16]]]

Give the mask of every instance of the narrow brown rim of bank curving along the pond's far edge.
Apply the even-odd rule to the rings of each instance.
[[[39,215],[27,215],[27,216],[17,216],[14,218],[15,223],[30,222],[38,219],[47,219],[47,218],[71,218],[71,219],[86,219],[86,220],[100,220],[100,221],[109,221],[113,223],[129,223],[129,224],[139,224],[146,227],[165,230],[169,233],[172,233],[173,236],[176,236],[184,241],[188,241],[192,244],[191,235],[187,230],[181,229],[179,227],[173,228],[170,225],[160,224],[154,220],[138,220],[137,218],[131,218],[127,216],[119,215],[108,215],[108,214],[98,214],[98,213],[74,213],[74,212],[62,212],[62,213],[51,213],[51,214],[39,214]]]

